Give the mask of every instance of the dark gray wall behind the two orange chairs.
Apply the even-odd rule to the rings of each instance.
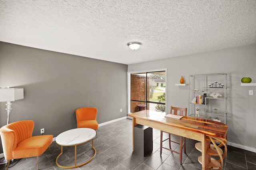
[[[40,135],[44,128],[44,134],[56,137],[76,128],[75,110],[80,107],[96,107],[99,124],[126,117],[127,68],[0,42],[0,87],[24,88],[24,99],[12,102],[10,123],[33,120],[33,135]],[[0,127],[7,124],[5,108],[5,102],[0,102]]]

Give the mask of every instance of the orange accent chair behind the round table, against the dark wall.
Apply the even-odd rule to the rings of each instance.
[[[76,109],[77,128],[92,128],[96,130],[98,138],[99,125],[96,121],[98,109],[94,107],[82,107]]]

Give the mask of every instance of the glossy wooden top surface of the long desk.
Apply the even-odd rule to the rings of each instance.
[[[208,119],[200,119],[195,117],[182,117],[182,119],[172,119],[165,117],[166,113],[156,111],[139,111],[128,114],[130,117],[145,119],[149,121],[160,122],[173,127],[190,130],[210,136],[225,138],[228,130],[228,125]]]

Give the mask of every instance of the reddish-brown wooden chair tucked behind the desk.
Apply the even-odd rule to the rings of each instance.
[[[179,108],[179,107],[172,107],[171,106],[170,113],[172,114],[172,112],[173,112],[174,115],[187,116],[187,108]],[[165,148],[165,147],[162,146],[163,142],[166,141],[166,140],[169,140],[169,147],[170,148]],[[180,145],[180,152],[177,152],[177,151],[171,149],[171,142],[174,142],[174,143],[177,143],[177,144]],[[184,148],[184,153],[186,154],[186,138],[184,138],[184,140],[183,140],[183,137],[180,136],[180,142],[172,141],[171,140],[171,134],[169,133],[169,138],[163,140],[163,131],[161,130],[161,135],[160,135],[160,155],[162,155],[162,148],[180,154],[180,164],[182,164],[182,148]]]

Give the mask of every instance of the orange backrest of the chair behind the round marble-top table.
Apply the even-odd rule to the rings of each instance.
[[[76,121],[96,120],[98,109],[94,107],[82,107],[76,109]]]

